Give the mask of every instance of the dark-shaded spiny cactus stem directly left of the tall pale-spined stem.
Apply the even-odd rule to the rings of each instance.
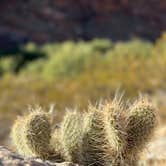
[[[103,114],[95,107],[89,107],[89,113],[85,116],[85,124],[82,138],[83,165],[105,165],[105,132],[103,126]]]

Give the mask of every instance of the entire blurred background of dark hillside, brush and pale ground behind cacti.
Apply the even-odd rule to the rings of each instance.
[[[117,89],[129,99],[148,94],[158,107],[146,155],[163,163],[166,1],[1,0],[0,145],[11,146],[10,127],[29,105],[55,105],[60,121],[66,107],[86,109]]]

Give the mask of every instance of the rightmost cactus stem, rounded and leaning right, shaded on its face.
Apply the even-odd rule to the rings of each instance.
[[[126,121],[127,144],[125,150],[129,155],[128,158],[135,162],[136,154],[142,151],[156,126],[154,107],[146,98],[141,98],[129,109]]]

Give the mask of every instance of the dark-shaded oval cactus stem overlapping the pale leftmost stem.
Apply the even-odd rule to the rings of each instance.
[[[28,147],[41,158],[48,158],[51,139],[51,124],[47,113],[41,109],[32,111],[25,119],[25,139]]]

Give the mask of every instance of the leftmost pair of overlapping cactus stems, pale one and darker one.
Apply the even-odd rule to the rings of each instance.
[[[37,156],[43,159],[51,155],[51,124],[47,113],[41,108],[30,110],[28,115],[19,118],[12,128],[12,138],[20,154]]]

